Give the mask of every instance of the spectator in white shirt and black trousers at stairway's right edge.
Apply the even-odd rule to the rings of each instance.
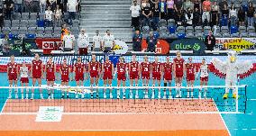
[[[132,25],[134,28],[138,28],[140,26],[140,11],[141,6],[137,5],[137,1],[133,1],[133,5],[130,7],[130,11],[132,12]]]

